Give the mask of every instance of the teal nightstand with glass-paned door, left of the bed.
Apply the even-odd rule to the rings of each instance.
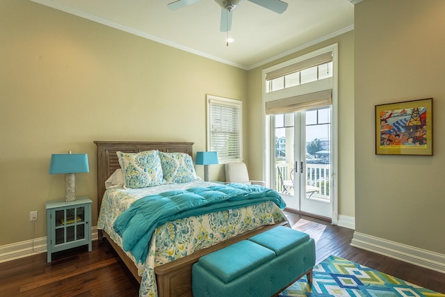
[[[47,261],[51,254],[88,244],[91,251],[91,200],[79,197],[75,201],[47,202]]]

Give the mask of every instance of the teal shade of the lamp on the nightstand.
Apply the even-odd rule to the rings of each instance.
[[[52,154],[49,174],[90,172],[88,154]]]

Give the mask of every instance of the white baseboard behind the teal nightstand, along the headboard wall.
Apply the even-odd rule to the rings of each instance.
[[[97,240],[97,227],[91,228],[91,239]],[[0,246],[0,263],[47,252],[47,237]]]

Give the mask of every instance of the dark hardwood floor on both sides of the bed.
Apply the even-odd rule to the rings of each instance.
[[[445,294],[445,275],[382,255],[353,248],[353,230],[323,220],[286,212],[296,229],[316,240],[316,262],[329,255],[377,269]],[[58,252],[47,263],[46,253],[0,264],[0,296],[138,296],[139,284],[107,241]]]

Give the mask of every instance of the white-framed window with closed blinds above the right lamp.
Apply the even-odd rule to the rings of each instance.
[[[207,147],[218,152],[220,163],[243,157],[241,115],[241,101],[207,96]]]

